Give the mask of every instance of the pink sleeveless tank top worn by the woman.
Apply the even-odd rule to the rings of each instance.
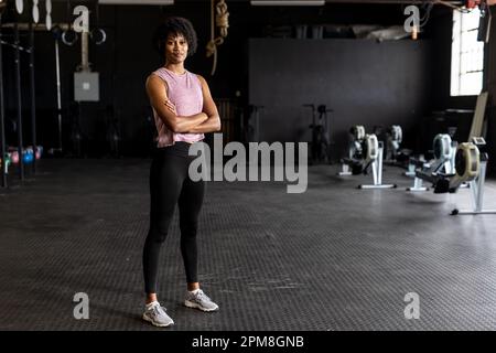
[[[191,116],[202,113],[203,94],[202,83],[200,78],[186,71],[185,74],[179,75],[165,67],[154,71],[152,74],[159,76],[168,84],[168,97],[175,105],[177,116]],[[169,130],[162,119],[153,109],[155,119],[157,147],[165,147],[174,145],[176,141],[197,142],[205,138],[203,133],[174,133]]]

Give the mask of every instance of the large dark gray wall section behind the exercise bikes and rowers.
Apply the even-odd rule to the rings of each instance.
[[[334,109],[337,154],[353,125],[399,124],[408,136],[428,106],[430,55],[428,41],[252,39],[249,100],[266,107],[261,139],[309,140],[309,103]]]

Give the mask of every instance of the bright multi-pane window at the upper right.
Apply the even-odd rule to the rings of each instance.
[[[451,51],[451,95],[478,95],[483,87],[484,42],[477,42],[478,8],[470,12],[453,11]]]

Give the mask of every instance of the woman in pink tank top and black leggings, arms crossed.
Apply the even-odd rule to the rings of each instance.
[[[160,248],[176,204],[187,285],[184,304],[203,311],[218,310],[200,289],[197,278],[196,229],[205,182],[190,179],[188,167],[196,157],[187,152],[192,143],[204,138],[204,132],[220,129],[220,118],[206,81],[184,68],[186,57],[197,46],[192,23],[183,18],[169,18],[157,29],[154,42],[165,64],[147,79],[159,137],[150,170],[150,231],[143,247],[143,319],[157,327],[168,327],[174,322],[158,301],[157,272]]]

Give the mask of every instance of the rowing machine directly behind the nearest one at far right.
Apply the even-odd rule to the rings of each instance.
[[[425,162],[423,159],[413,159],[409,161],[409,172],[414,169],[413,186],[407,191],[428,191],[429,188],[423,185],[423,181],[433,183],[434,193],[445,192],[444,182],[439,182],[438,175],[453,175],[455,173],[455,141],[452,141],[449,133],[438,133],[433,140],[434,159]]]

